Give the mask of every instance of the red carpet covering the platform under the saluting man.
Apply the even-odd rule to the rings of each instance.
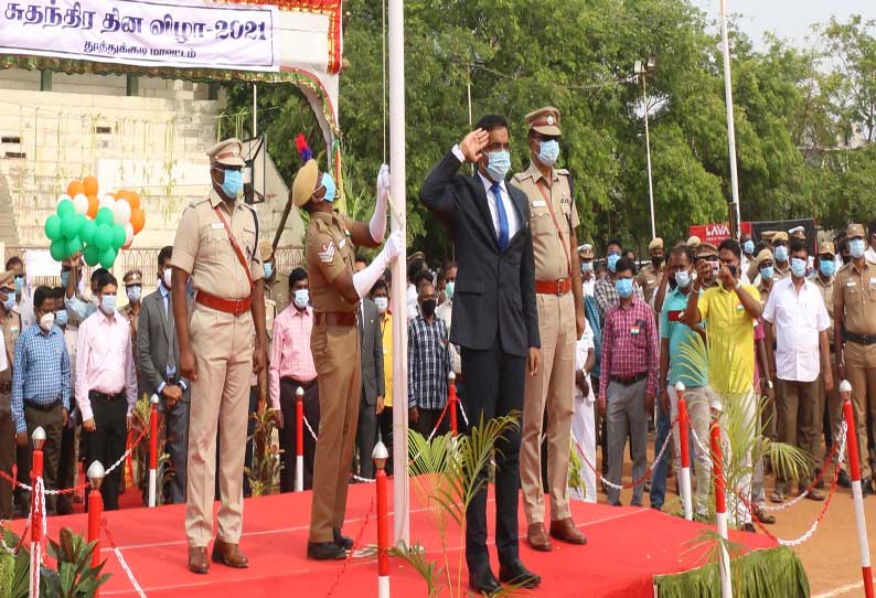
[[[348,535],[355,537],[362,531],[373,495],[373,484],[351,487],[344,527]],[[352,558],[340,577],[343,563],[314,563],[305,557],[310,519],[309,492],[247,500],[241,546],[249,556],[250,568],[235,570],[214,564],[205,576],[191,574],[185,568],[183,510],[182,505],[172,505],[107,514],[113,540],[121,548],[137,580],[150,598],[222,595],[244,598],[298,596],[300,592],[306,592],[308,598],[365,598],[377,595],[374,556]],[[521,531],[525,533],[522,506],[520,513]],[[586,546],[555,543],[554,552],[545,554],[532,551],[525,540],[521,540],[523,562],[543,577],[541,588],[535,591],[537,596],[651,597],[653,575],[693,568],[703,554],[703,548],[693,547],[692,541],[705,528],[704,525],[650,509],[574,502],[573,514],[578,526],[587,534],[589,544]],[[492,515],[490,521],[493,521]],[[15,530],[20,532],[22,522],[17,521],[15,524]],[[50,536],[57,537],[62,526],[84,533],[86,516],[51,517]],[[392,533],[392,524],[389,528]],[[412,542],[426,546],[427,558],[444,563],[434,515],[413,509],[410,528]],[[376,530],[375,514],[372,512],[357,547],[376,544]],[[752,548],[774,546],[762,535],[737,534],[731,540],[745,542]],[[461,545],[459,528],[451,523],[448,546],[455,584]],[[494,572],[498,573],[492,547],[491,552]],[[103,538],[103,556],[107,558],[106,570],[113,577],[100,595],[137,596],[109,549],[106,537]],[[462,568],[464,585],[464,558]],[[391,560],[391,584],[395,597],[426,596],[425,581],[397,558]],[[441,596],[446,595],[447,591],[441,592]]]

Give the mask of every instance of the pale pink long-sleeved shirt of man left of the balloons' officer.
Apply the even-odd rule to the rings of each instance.
[[[113,318],[98,310],[79,325],[76,339],[76,402],[83,421],[94,417],[90,391],[104,394],[125,392],[128,415],[137,403],[137,370],[133,365],[131,330],[117,311]]]

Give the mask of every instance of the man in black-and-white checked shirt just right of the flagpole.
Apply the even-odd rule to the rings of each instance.
[[[450,372],[450,343],[447,325],[435,316],[438,293],[431,282],[419,288],[419,316],[407,328],[408,409],[410,423],[428,437],[438,425],[447,404],[447,375]],[[438,434],[449,429],[445,416]]]

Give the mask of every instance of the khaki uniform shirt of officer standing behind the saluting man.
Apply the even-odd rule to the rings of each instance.
[[[571,231],[579,224],[578,211],[575,209],[571,197],[568,171],[551,169],[551,172],[553,179],[549,188],[538,168],[532,162],[525,171],[514,174],[511,181],[514,186],[526,194],[530,201],[535,280],[546,282],[571,278],[569,250],[575,247],[575,241],[570,242],[569,237]],[[544,193],[540,191],[540,188],[544,190]],[[556,225],[551,217],[548,201],[554,209]],[[557,226],[559,226],[559,234]]]

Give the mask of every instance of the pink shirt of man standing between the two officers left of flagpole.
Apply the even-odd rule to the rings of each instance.
[[[270,405],[280,408],[280,378],[310,382],[317,377],[313,354],[310,352],[310,331],[313,329],[313,310],[290,305],[274,320],[274,340],[270,346],[268,382]]]

